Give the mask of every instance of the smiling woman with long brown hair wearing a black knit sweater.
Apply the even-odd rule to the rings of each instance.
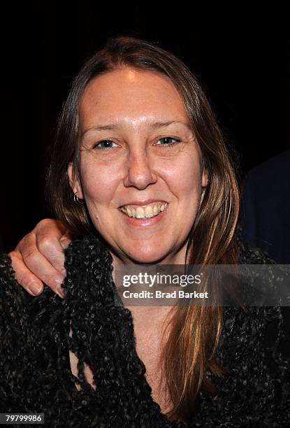
[[[22,292],[3,256],[1,411],[52,426],[287,426],[281,308],[114,304],[119,264],[273,263],[238,240],[233,167],[187,66],[110,38],[68,94],[48,196],[74,238],[64,299]]]

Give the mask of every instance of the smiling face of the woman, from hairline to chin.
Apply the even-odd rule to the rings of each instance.
[[[208,176],[171,80],[129,67],[98,76],[82,95],[80,134],[71,187],[114,261],[184,264]]]

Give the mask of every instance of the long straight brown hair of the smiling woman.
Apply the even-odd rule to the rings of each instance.
[[[235,264],[238,261],[234,237],[239,207],[238,184],[215,114],[194,73],[157,43],[139,38],[108,38],[103,49],[85,62],[73,81],[59,116],[47,180],[50,205],[57,218],[73,236],[94,231],[85,205],[73,202],[67,169],[72,162],[75,173],[78,173],[78,115],[85,87],[96,76],[120,66],[157,71],[171,79],[184,102],[201,148],[209,185],[189,232],[187,264]],[[188,420],[196,411],[201,392],[217,392],[206,376],[206,370],[210,369],[217,376],[226,373],[214,358],[222,330],[222,308],[175,307],[171,315],[164,330],[168,331],[168,336],[164,340],[159,365],[172,403],[168,418]]]

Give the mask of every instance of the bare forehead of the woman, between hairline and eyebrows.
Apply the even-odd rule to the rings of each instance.
[[[82,94],[82,127],[110,120],[134,125],[152,118],[188,122],[179,92],[160,73],[122,67],[91,80]]]

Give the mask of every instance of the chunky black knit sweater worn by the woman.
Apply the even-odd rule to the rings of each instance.
[[[240,249],[240,263],[273,263],[249,245]],[[224,307],[216,357],[230,374],[215,378],[208,371],[217,397],[201,394],[190,422],[170,422],[151,397],[131,311],[115,306],[112,261],[95,236],[73,241],[61,299],[47,286],[31,297],[2,255],[0,413],[44,413],[48,427],[290,427],[290,308]],[[79,359],[79,380],[69,350]]]

